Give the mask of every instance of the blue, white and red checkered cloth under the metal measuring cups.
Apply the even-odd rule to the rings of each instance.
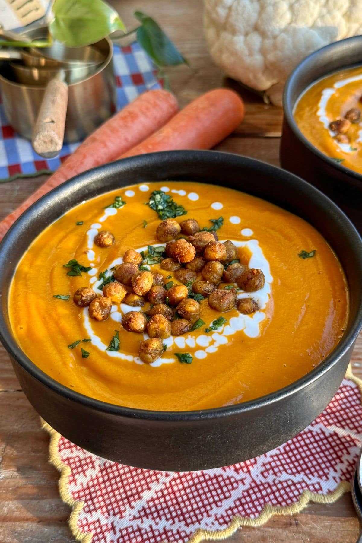
[[[160,89],[155,66],[137,42],[128,47],[114,46],[117,107],[123,108],[145,90]],[[64,145],[54,159],[37,155],[28,140],[9,125],[0,94],[0,182],[20,176],[54,172],[79,143]]]

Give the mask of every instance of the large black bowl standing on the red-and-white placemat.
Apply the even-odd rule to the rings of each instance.
[[[155,412],[119,407],[78,394],[55,382],[24,355],[11,333],[7,300],[14,269],[29,243],[82,200],[152,180],[194,180],[245,191],[296,213],[325,236],[340,258],[351,292],[346,332],[325,361],[299,381],[257,400],[202,411]],[[78,175],[46,194],[12,226],[0,244],[0,337],[31,404],[73,443],[99,456],[142,468],[214,468],[273,449],[300,432],[326,407],[342,381],[361,328],[361,277],[362,241],[350,220],[325,195],[295,175],[243,156],[214,151],[142,155]]]

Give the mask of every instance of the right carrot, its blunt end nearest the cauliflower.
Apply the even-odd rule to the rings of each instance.
[[[244,117],[243,100],[228,89],[202,94],[160,130],[119,158],[172,149],[211,149],[237,128]]]

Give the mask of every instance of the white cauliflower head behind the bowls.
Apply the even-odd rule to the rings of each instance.
[[[281,106],[304,57],[362,34],[362,0],[204,0],[204,27],[215,64]]]

